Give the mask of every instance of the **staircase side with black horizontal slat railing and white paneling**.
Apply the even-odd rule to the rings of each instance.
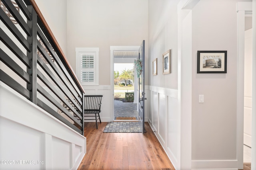
[[[76,169],[84,89],[34,0],[0,6],[0,169]]]

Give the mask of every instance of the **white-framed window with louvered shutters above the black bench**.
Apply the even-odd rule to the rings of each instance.
[[[76,48],[76,75],[82,85],[99,85],[99,48]]]

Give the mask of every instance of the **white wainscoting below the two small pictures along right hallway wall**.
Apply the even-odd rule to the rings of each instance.
[[[178,165],[178,90],[148,86],[148,123],[174,167]]]

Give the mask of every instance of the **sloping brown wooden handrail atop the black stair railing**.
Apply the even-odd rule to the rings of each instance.
[[[58,50],[60,51],[60,54],[62,55],[64,61],[66,62],[66,64],[68,65],[68,68],[70,69],[70,71],[72,72],[74,78],[76,79],[76,82],[78,82],[80,88],[82,89],[82,91],[85,93],[84,88],[82,86],[82,84],[80,83],[79,79],[77,78],[72,66],[70,65],[70,63],[68,62],[68,59],[66,58],[66,56],[64,55],[64,52],[62,51],[62,49],[60,48],[60,45],[58,43],[58,41],[56,40],[56,38],[54,37],[52,30],[50,29],[49,25],[47,24],[46,20],[44,19],[44,16],[42,15],[41,11],[39,10],[35,0],[30,0],[32,6],[34,7],[34,9],[36,10],[37,15],[39,16],[39,18],[41,19],[42,23],[44,24],[44,26],[46,27],[46,30],[48,31],[49,35],[52,37],[52,40],[54,41],[56,47],[58,48]]]

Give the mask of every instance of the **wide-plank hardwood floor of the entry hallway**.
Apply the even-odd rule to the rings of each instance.
[[[87,153],[78,170],[175,170],[152,129],[147,133],[103,133],[107,122],[84,124]]]

